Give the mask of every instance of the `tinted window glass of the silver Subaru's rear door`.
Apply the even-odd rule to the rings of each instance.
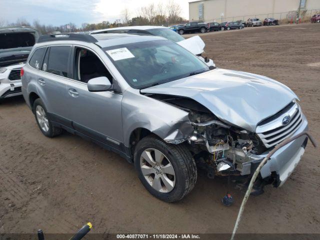
[[[69,77],[68,63],[70,51],[71,46],[50,46],[46,71],[59,76]]]

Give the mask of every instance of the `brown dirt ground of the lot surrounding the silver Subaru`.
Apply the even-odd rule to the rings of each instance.
[[[288,85],[301,100],[320,142],[320,24],[254,27],[200,35],[218,67],[249,71]],[[266,99],[267,100],[267,99]],[[249,198],[239,226],[245,233],[320,233],[320,150],[308,144],[281,188]],[[0,233],[230,232],[234,205],[220,199],[226,179],[199,175],[177,203],[152,197],[130,165],[113,152],[68,133],[43,136],[22,97],[0,103]]]

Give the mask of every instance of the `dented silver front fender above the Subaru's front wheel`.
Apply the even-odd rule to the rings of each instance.
[[[184,141],[193,131],[188,112],[138,91],[123,94],[122,121],[125,146],[130,144],[131,132],[140,127],[171,143]]]

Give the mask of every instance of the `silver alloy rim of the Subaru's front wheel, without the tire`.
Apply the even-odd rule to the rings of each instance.
[[[175,173],[169,159],[159,150],[145,149],[140,157],[142,175],[153,189],[170,192],[175,185]]]

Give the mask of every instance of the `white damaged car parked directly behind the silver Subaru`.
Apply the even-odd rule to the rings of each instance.
[[[178,33],[170,30],[164,26],[121,26],[106,29],[99,29],[91,31],[89,34],[101,34],[101,33],[127,33],[127,34],[140,34],[140,35],[154,35],[162,36],[171,41],[178,43],[187,50],[191,51],[194,55],[197,55],[201,60],[205,61],[208,66],[215,66],[212,59],[206,59],[201,56],[204,49],[204,42],[199,36],[192,36],[184,39]]]

